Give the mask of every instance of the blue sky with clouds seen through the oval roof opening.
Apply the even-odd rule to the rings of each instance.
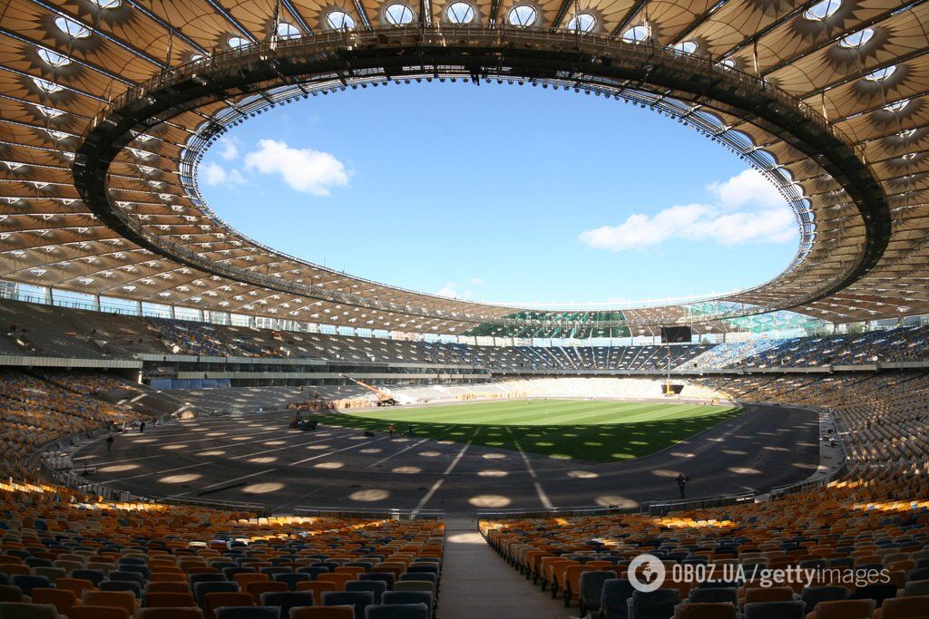
[[[531,86],[411,84],[278,107],[224,136],[204,198],[281,251],[507,303],[619,303],[777,275],[792,214],[760,175],[648,110]]]

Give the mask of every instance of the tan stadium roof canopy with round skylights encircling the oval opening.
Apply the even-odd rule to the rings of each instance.
[[[929,313],[929,4],[882,0],[9,0],[0,13],[0,277],[39,286],[433,333],[600,320],[653,332],[792,308],[833,322]],[[617,97],[724,143],[797,216],[793,263],[725,298],[529,312],[402,290],[249,239],[196,164],[295,97],[436,78]],[[216,205],[219,213],[222,205]],[[643,330],[645,329],[645,330]],[[623,331],[625,332],[625,331]]]

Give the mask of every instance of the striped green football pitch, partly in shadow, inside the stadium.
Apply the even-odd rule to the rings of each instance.
[[[531,402],[531,403],[530,403]],[[315,415],[323,424],[612,462],[660,451],[731,419],[737,406],[605,400],[506,400]]]

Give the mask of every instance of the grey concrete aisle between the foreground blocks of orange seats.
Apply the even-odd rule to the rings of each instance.
[[[567,609],[520,575],[484,542],[473,520],[446,521],[438,619],[567,619]]]

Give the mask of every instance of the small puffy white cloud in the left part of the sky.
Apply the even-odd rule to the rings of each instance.
[[[314,196],[328,196],[333,187],[348,184],[342,161],[328,152],[292,148],[278,140],[259,140],[258,149],[245,155],[245,167],[262,174],[280,174],[287,185]]]

